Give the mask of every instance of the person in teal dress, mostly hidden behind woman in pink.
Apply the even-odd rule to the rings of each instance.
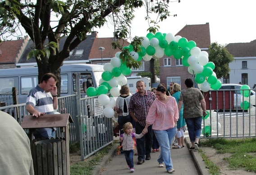
[[[172,86],[171,88],[171,93],[172,96],[176,99],[176,102],[178,104],[178,99],[179,99],[179,96],[181,94],[181,88],[180,88],[180,85],[177,84],[177,83],[174,83],[174,85]],[[178,118],[178,121],[177,121],[177,141],[178,141],[178,144],[175,145],[173,148],[183,148],[184,147],[184,143],[183,143],[183,140],[184,140],[184,132],[183,132],[183,129],[186,125],[186,122],[185,122],[185,119],[183,118],[183,105],[181,107],[181,110],[179,112],[179,118]]]

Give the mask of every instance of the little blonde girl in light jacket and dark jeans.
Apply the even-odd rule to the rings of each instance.
[[[123,154],[125,156],[128,169],[130,169],[131,172],[134,171],[133,169],[133,149],[134,149],[133,137],[135,139],[140,139],[144,135],[143,133],[141,133],[140,135],[137,135],[132,131],[133,131],[132,123],[127,122],[123,125],[124,133],[120,135],[120,140],[122,141],[122,147],[123,147]]]

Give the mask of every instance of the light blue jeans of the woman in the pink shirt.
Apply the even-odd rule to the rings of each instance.
[[[177,133],[177,127],[170,128],[168,130],[154,130],[155,136],[158,140],[158,143],[161,147],[160,156],[157,159],[157,162],[163,163],[165,162],[166,170],[173,169],[173,162],[171,159],[171,145],[173,139]]]

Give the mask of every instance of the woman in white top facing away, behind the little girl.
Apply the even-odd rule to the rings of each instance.
[[[120,96],[116,99],[116,105],[114,110],[118,114],[118,125],[120,130],[120,135],[123,134],[123,125],[127,122],[132,123],[132,117],[128,112],[128,105],[130,103],[130,91],[127,85],[123,85],[120,90]],[[121,145],[121,142],[120,142]],[[123,153],[123,148],[121,148],[121,153]]]

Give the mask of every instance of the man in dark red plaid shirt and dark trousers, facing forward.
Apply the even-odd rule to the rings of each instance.
[[[155,100],[155,94],[145,90],[146,85],[144,81],[137,81],[136,87],[138,92],[132,95],[128,111],[135,121],[136,132],[141,133],[146,125],[148,111]],[[137,164],[141,165],[145,160],[151,159],[151,148],[153,143],[152,126],[148,127],[148,132],[142,138],[136,140],[138,153]]]

